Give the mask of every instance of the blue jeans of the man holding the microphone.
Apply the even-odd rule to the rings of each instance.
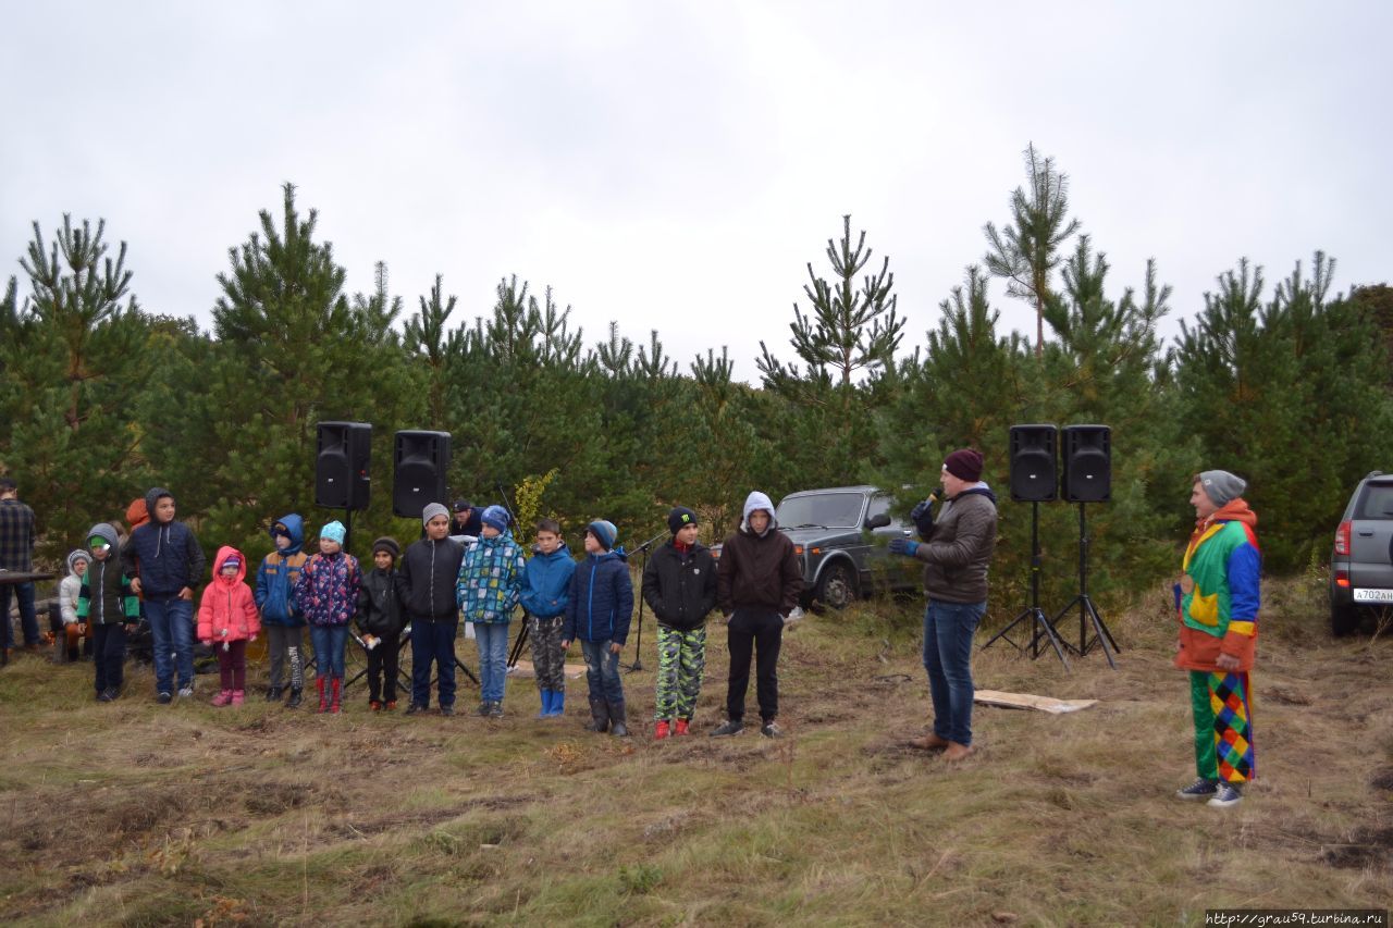
[[[931,599],[924,612],[924,669],[933,698],[933,733],[972,743],[972,635],[986,602]]]

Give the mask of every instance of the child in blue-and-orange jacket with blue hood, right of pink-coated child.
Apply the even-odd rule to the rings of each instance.
[[[309,556],[304,552],[305,521],[291,513],[270,527],[276,550],[262,559],[256,569],[256,608],[262,610],[262,628],[266,631],[266,654],[270,655],[270,686],[266,690],[267,702],[279,702],[284,690],[280,686],[286,660],[290,660],[290,701],[287,709],[299,706],[305,688],[305,669],[301,654],[305,649],[305,617],[291,599],[290,592],[299,580]]]

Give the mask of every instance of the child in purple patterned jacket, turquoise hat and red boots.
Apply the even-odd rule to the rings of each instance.
[[[343,543],[343,523],[329,523],[319,529],[319,553],[305,563],[291,594],[309,621],[320,712],[338,712],[348,621],[358,612],[358,588],[362,585],[358,559],[344,553]]]

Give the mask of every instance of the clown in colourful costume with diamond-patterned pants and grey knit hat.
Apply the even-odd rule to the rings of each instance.
[[[1256,651],[1262,557],[1252,531],[1258,516],[1238,496],[1244,488],[1243,479],[1226,471],[1205,471],[1197,478],[1190,502],[1198,518],[1176,587],[1176,666],[1190,672],[1201,778],[1190,790],[1233,797],[1211,800],[1215,805],[1236,803],[1237,784],[1255,775],[1248,674]],[[1229,789],[1219,790],[1219,783]],[[1201,798],[1185,790],[1181,796]]]

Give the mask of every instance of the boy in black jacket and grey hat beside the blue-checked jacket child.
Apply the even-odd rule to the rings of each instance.
[[[440,715],[454,715],[454,635],[460,630],[454,582],[464,545],[450,538],[450,510],[430,503],[421,510],[426,536],[401,559],[397,587],[411,621],[411,705],[407,715],[430,708],[430,665],[440,674]]]

